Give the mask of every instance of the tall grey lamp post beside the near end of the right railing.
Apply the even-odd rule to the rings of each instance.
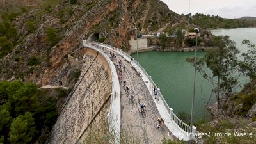
[[[199,29],[195,28],[194,31],[196,32],[196,48],[195,48],[195,73],[194,73],[194,85],[193,85],[193,95],[192,95],[192,104],[191,104],[191,118],[190,118],[190,132],[191,132],[191,140],[192,140],[192,130],[193,130],[193,113],[194,113],[194,101],[195,101],[195,85],[196,85],[196,52],[197,52],[197,38],[198,38],[198,33]]]

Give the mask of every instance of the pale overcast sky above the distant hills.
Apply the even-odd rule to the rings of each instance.
[[[189,0],[161,0],[170,10],[188,14]],[[190,12],[219,15],[234,19],[244,16],[256,17],[256,0],[190,0]]]

